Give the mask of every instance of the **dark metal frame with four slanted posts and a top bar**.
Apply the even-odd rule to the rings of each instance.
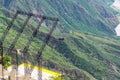
[[[46,37],[44,38],[44,42],[43,42],[42,46],[40,47],[40,49],[39,49],[39,51],[38,51],[38,53],[37,53],[37,56],[36,56],[36,58],[37,58],[37,60],[38,60],[38,66],[41,67],[41,66],[42,66],[42,57],[41,57],[42,52],[43,52],[46,44],[48,43],[48,41],[49,41],[49,39],[50,39],[50,36],[51,36],[51,34],[53,33],[53,31],[54,31],[54,29],[55,29],[55,27],[56,27],[59,19],[58,19],[58,18],[54,18],[54,17],[44,16],[44,15],[38,15],[38,14],[33,14],[33,13],[26,13],[26,12],[22,12],[22,11],[17,11],[16,14],[14,15],[14,17],[12,18],[10,24],[8,24],[8,26],[7,26],[7,28],[6,28],[6,31],[3,33],[2,37],[0,38],[0,49],[1,49],[0,54],[1,54],[1,56],[3,56],[3,42],[4,42],[5,38],[6,38],[9,30],[10,30],[11,27],[13,26],[14,21],[15,21],[15,19],[18,17],[18,15],[26,15],[27,18],[26,18],[25,22],[23,23],[23,26],[21,27],[20,31],[18,32],[18,34],[17,34],[16,37],[14,38],[13,42],[11,43],[10,47],[8,48],[7,53],[11,53],[11,51],[14,49],[15,44],[17,43],[19,37],[21,36],[23,30],[25,29],[25,27],[26,27],[28,21],[31,19],[31,17],[35,17],[35,18],[40,18],[40,19],[41,19],[41,21],[38,23],[37,28],[33,31],[32,36],[30,37],[29,42],[27,42],[27,45],[24,47],[24,49],[23,49],[23,51],[22,51],[22,53],[23,53],[23,55],[24,55],[24,62],[26,62],[26,60],[27,60],[26,54],[27,54],[27,52],[28,52],[28,49],[29,49],[32,41],[33,41],[33,38],[37,35],[38,30],[39,30],[39,28],[41,27],[41,24],[42,24],[45,20],[54,21],[54,23],[53,23],[53,25],[52,25],[52,28],[50,29],[50,31],[48,32],[48,34],[47,34]],[[16,55],[16,57],[18,57],[18,55]],[[16,59],[16,60],[17,60],[17,59]],[[3,61],[2,61],[2,64],[3,64]],[[17,63],[17,65],[18,65],[18,63]],[[3,72],[3,69],[2,69],[2,72]],[[42,76],[42,74],[38,74],[38,75],[41,75],[41,76]],[[3,76],[4,76],[4,75],[3,75]],[[42,78],[39,79],[39,80],[42,80]]]

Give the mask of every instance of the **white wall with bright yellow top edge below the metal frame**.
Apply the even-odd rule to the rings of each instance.
[[[10,72],[12,71],[12,66],[8,67],[7,70]],[[32,70],[31,78],[35,80],[39,80],[42,76],[42,80],[52,80],[52,78],[61,77],[62,74],[45,69],[40,68],[38,66],[32,66],[31,64],[22,63],[18,66],[18,75],[24,76],[26,74],[25,70]],[[41,74],[38,75],[38,74]]]

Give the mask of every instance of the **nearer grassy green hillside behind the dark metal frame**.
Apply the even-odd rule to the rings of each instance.
[[[4,26],[7,26],[10,21],[9,18],[5,17],[3,11],[1,13],[0,37],[5,31],[6,27]],[[5,11],[5,13],[7,12]],[[20,18],[23,19],[22,16],[20,16]],[[7,35],[4,41],[5,47],[10,46],[10,44],[13,42],[14,37],[18,33],[18,29],[22,25],[20,18],[15,21],[14,26],[11,28],[9,34]],[[30,20],[30,23],[33,23],[32,28],[37,25],[33,20]],[[38,49],[41,47],[43,36],[48,32],[49,29],[47,27],[42,27],[40,30],[41,34],[35,37],[29,48],[28,60],[32,63],[36,63],[36,60],[34,58],[36,57]],[[27,44],[31,33],[32,29],[28,28],[27,26],[23,34],[20,36],[15,48],[23,49]],[[115,80],[120,79],[120,75],[117,74],[112,69],[112,67],[110,67],[111,64],[115,64],[114,66],[118,67],[118,71],[120,69],[120,55],[115,54],[115,52],[120,52],[119,38],[115,39],[97,36],[91,33],[83,33],[78,31],[69,31],[62,33],[61,35],[65,38],[64,41],[59,41],[59,33],[54,32],[50,42],[47,44],[45,50],[43,51],[43,58],[45,59],[43,61],[43,63],[45,63],[43,64],[44,67],[50,67],[53,69],[57,67],[60,69],[60,71],[63,70],[66,73],[66,69],[75,69],[81,73],[81,77],[85,77],[88,80],[110,80],[112,79],[110,76],[113,76]],[[113,51],[113,53],[110,53],[109,51]],[[69,71],[70,70],[68,70],[68,72]],[[109,71],[111,71],[113,74],[108,74]],[[80,74],[78,75],[80,76]]]

